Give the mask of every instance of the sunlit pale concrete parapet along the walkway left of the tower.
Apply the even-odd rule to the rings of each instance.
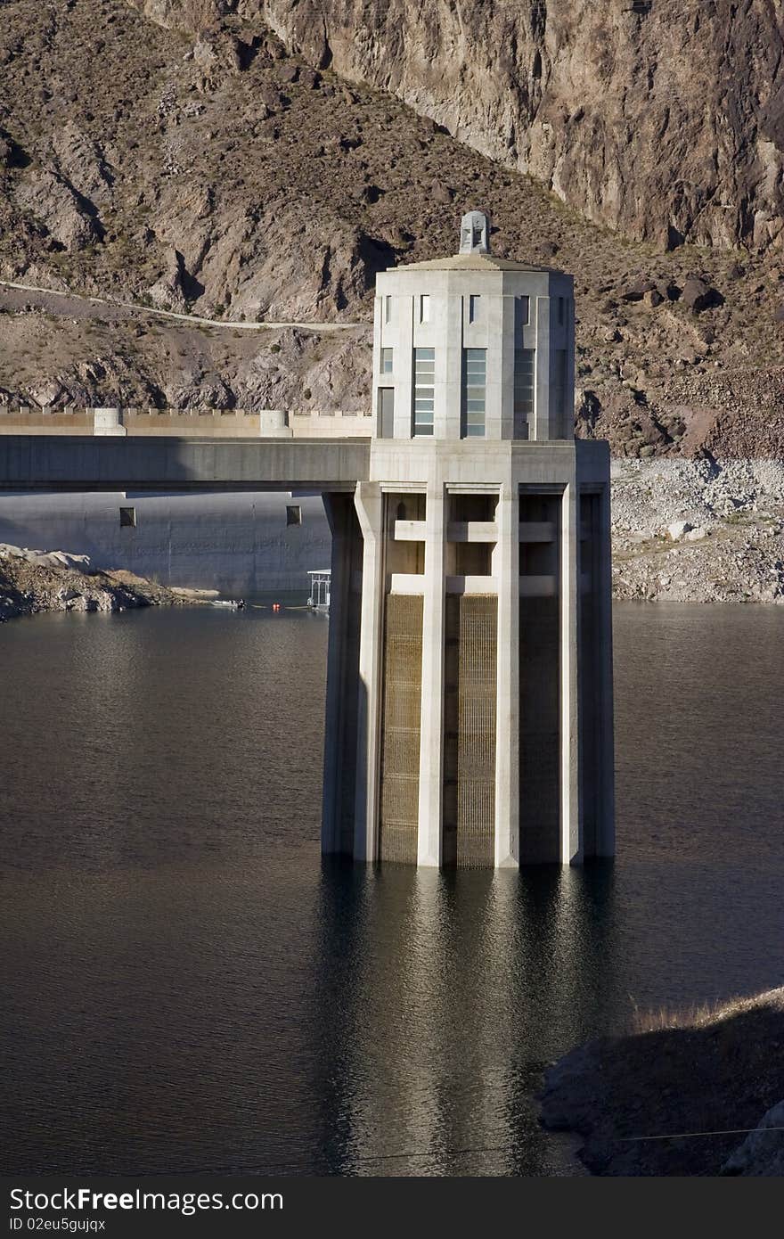
[[[0,404],[0,435],[170,435],[194,439],[348,439],[370,413],[318,409],[58,409]]]

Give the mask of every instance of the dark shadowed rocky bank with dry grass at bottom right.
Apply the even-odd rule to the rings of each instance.
[[[541,1121],[583,1137],[593,1175],[784,1173],[784,989],[572,1051],[545,1073]]]

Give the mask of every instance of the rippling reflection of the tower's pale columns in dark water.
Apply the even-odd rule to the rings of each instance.
[[[324,861],[313,984],[322,1172],[573,1175],[545,1064],[621,1025],[612,862],[364,871]]]

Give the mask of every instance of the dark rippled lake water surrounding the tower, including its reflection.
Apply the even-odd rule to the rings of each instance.
[[[618,859],[322,865],[327,624],[0,628],[0,1170],[578,1173],[542,1064],[784,984],[784,608],[616,608]]]

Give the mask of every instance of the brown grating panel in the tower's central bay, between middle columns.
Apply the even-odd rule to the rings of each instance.
[[[443,864],[493,864],[498,598],[447,595]]]

